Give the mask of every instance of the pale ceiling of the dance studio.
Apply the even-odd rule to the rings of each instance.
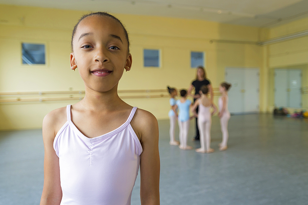
[[[0,4],[201,19],[257,27],[278,26],[308,17],[308,0],[0,0]]]

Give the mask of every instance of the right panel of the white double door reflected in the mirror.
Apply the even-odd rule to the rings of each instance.
[[[289,70],[290,107],[302,107],[302,71]]]

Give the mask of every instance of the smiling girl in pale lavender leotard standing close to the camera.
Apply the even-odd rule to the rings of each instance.
[[[43,120],[43,204],[131,204],[140,165],[141,204],[159,204],[160,160],[156,118],[117,94],[132,66],[128,34],[117,18],[83,16],[72,34],[71,69],[85,97]]]

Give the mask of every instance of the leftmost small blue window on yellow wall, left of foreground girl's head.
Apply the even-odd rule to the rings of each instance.
[[[22,64],[45,64],[45,45],[22,43]]]

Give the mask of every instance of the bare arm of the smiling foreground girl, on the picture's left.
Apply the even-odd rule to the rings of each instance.
[[[59,205],[62,199],[60,186],[59,157],[53,148],[55,139],[55,112],[48,113],[43,119],[44,142],[44,186],[40,205]]]

